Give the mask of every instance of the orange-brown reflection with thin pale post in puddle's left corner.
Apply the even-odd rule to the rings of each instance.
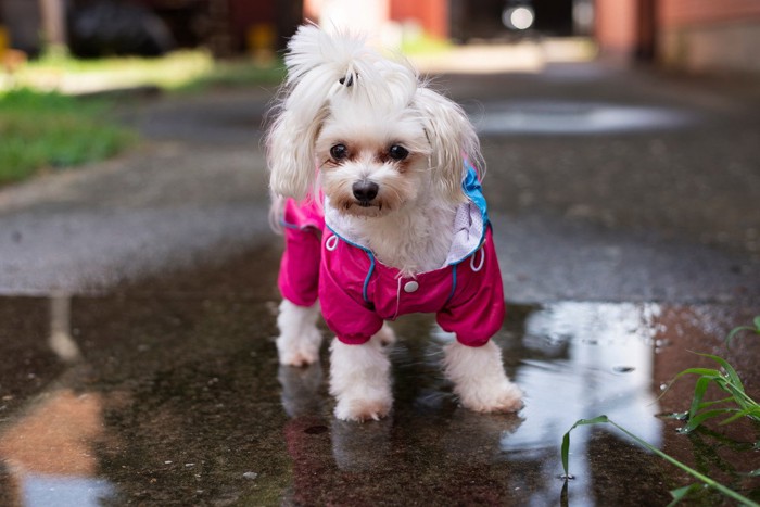
[[[71,334],[71,295],[51,295],[48,346],[68,368],[0,428],[4,486],[20,506],[96,506],[114,493],[98,478],[96,445],[105,439],[104,400],[83,392],[87,366]]]

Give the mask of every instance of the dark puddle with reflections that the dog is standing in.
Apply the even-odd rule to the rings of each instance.
[[[331,417],[322,366],[279,367],[276,252],[104,296],[0,299],[0,504],[666,505],[688,477],[610,428],[605,414],[758,498],[756,427],[682,435],[689,366],[722,353],[757,398],[758,340],[729,306],[565,302],[510,306],[496,342],[527,393],[518,415],[458,407],[441,375],[451,337],[427,316],[394,324],[387,420]],[[565,490],[563,490],[565,487]],[[752,489],[753,493],[752,493]],[[709,492],[701,502],[722,502]]]

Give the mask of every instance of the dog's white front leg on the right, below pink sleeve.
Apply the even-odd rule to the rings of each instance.
[[[495,343],[472,347],[454,342],[444,354],[446,376],[463,406],[483,413],[522,408],[522,393],[504,372],[502,351]]]

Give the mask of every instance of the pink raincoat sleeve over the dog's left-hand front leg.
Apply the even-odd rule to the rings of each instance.
[[[327,239],[329,233],[326,233]],[[368,268],[357,258],[346,255],[345,251],[352,246],[343,241],[338,243],[334,251],[322,251],[319,303],[325,322],[338,340],[360,345],[380,330],[383,320],[363,299]]]

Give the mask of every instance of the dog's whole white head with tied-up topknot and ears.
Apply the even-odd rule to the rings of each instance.
[[[419,199],[459,203],[479,142],[461,109],[350,35],[299,28],[267,137],[275,194],[321,188],[341,213],[379,216]]]

